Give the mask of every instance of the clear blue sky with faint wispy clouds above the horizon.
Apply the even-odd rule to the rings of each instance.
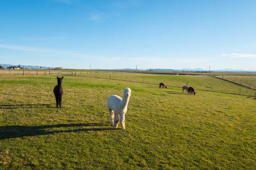
[[[0,1],[0,63],[256,70],[256,1]]]

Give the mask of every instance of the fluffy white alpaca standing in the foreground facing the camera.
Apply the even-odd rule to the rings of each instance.
[[[121,126],[123,129],[125,129],[125,113],[127,111],[127,105],[129,103],[130,96],[131,89],[126,87],[123,90],[123,98],[117,95],[111,95],[107,99],[110,122],[115,129],[118,127],[119,117]]]

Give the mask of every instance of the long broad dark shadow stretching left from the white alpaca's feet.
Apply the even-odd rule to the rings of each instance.
[[[12,125],[0,127],[0,140],[7,138],[26,137],[26,136],[39,136],[51,135],[58,133],[76,133],[81,131],[102,131],[114,130],[113,128],[106,128],[109,124],[103,123],[71,123],[71,124],[53,124],[53,125],[39,125],[39,126],[26,126],[26,125]],[[53,128],[74,128],[84,127],[80,129],[67,129],[67,130],[52,130]],[[91,128],[86,128],[91,127]],[[101,128],[95,128],[101,127]]]

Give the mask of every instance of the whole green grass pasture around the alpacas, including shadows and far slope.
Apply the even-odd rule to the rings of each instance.
[[[253,91],[200,75],[93,76],[64,75],[56,109],[56,75],[1,75],[0,169],[255,168]],[[195,96],[181,93],[186,83]],[[200,90],[211,86],[221,92]],[[106,100],[124,87],[132,90],[126,130],[113,130]],[[239,89],[254,97],[230,94]]]

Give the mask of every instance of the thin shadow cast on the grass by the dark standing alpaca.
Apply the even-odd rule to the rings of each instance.
[[[53,108],[51,104],[7,104],[0,105],[0,109],[17,109],[17,108]]]

